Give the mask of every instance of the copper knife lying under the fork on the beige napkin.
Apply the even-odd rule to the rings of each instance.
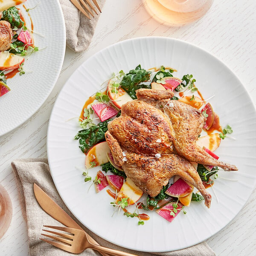
[[[67,214],[52,198],[44,192],[36,183],[34,183],[34,193],[35,198],[38,201],[38,204],[42,207],[42,209],[48,213],[52,218],[64,224],[67,227],[73,227],[80,230],[83,230],[70,215]],[[91,243],[99,245],[91,236],[88,236],[88,239]],[[110,256],[108,253],[99,252],[102,256]]]

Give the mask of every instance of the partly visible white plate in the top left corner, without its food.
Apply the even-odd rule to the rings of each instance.
[[[35,46],[24,63],[25,74],[19,73],[7,80],[11,89],[0,97],[0,136],[12,131],[29,119],[51,93],[59,73],[66,48],[64,17],[58,0],[28,0],[25,3],[34,26]],[[31,29],[31,21],[23,4],[20,8],[26,26]]]

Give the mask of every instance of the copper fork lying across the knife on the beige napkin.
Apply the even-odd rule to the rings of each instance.
[[[103,247],[100,245],[92,244],[88,240],[87,234],[83,230],[79,230],[79,229],[71,228],[71,227],[55,227],[55,226],[44,226],[44,227],[48,227],[48,228],[52,228],[55,230],[61,230],[61,231],[70,233],[70,234],[67,234],[67,233],[60,233],[60,232],[56,232],[56,231],[52,231],[52,230],[43,230],[43,231],[55,234],[57,236],[51,236],[51,235],[47,235],[47,234],[41,234],[41,235],[47,236],[51,239],[55,239],[57,241],[60,241],[61,243],[51,241],[48,239],[40,238],[41,240],[43,240],[49,244],[52,244],[55,247],[58,247],[62,250],[70,252],[70,253],[81,253],[87,248],[92,248],[94,250],[98,250],[98,251],[104,252],[104,253],[109,253],[109,254],[112,254],[115,256],[136,256],[131,253],[125,253],[125,252],[121,252],[119,250],[113,250],[113,249],[106,248],[106,247]]]

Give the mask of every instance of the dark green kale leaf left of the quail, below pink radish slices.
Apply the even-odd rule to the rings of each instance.
[[[83,153],[86,153],[93,145],[105,139],[105,132],[108,131],[108,122],[111,120],[113,119],[100,122],[98,125],[81,130],[76,134],[74,139],[79,140],[79,148]]]

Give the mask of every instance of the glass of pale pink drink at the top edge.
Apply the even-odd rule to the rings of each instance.
[[[144,0],[148,12],[160,23],[181,25],[203,17],[213,0]]]

